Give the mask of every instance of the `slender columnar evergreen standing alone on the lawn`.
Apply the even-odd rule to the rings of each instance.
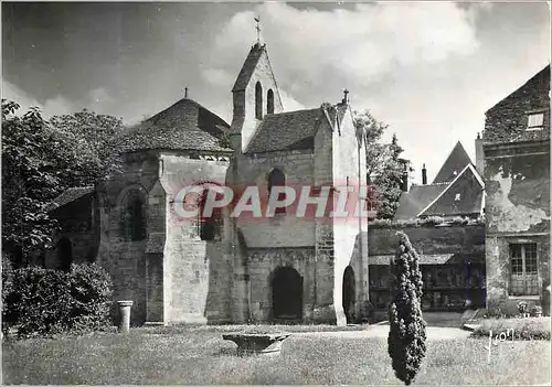
[[[410,385],[425,357],[426,323],[422,316],[420,258],[408,237],[397,233],[399,248],[390,262],[391,302],[388,353],[399,379]]]

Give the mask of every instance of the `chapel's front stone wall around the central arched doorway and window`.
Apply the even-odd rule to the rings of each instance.
[[[263,215],[268,201],[268,174],[279,169],[286,178],[286,185],[296,189],[312,185],[314,154],[308,150],[278,151],[263,154],[244,155],[237,159],[238,173],[233,181],[236,192],[247,186],[259,190]],[[245,319],[269,321],[272,315],[272,284],[269,277],[282,266],[296,269],[304,279],[304,321],[312,315],[312,286],[316,276],[315,267],[315,221],[295,216],[296,205],[286,208],[285,214],[272,218],[253,218],[252,214],[242,214],[235,219],[236,233],[240,233],[243,250],[240,257],[243,265],[237,264],[237,280],[234,292],[237,300],[234,307],[245,312]],[[240,243],[235,234],[236,243]],[[242,288],[240,288],[242,287]],[[245,292],[245,293],[244,293]]]

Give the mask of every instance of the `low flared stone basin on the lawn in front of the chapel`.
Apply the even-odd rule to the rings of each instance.
[[[237,344],[238,355],[277,355],[282,351],[282,343],[287,337],[289,337],[289,333],[233,333],[222,335],[222,338]]]

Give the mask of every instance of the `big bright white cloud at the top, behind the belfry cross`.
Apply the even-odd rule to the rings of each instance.
[[[244,42],[255,40],[255,14],[285,88],[291,79],[316,84],[328,77],[365,85],[396,66],[466,55],[478,46],[469,11],[449,2],[359,3],[332,11],[269,2],[223,26],[213,47],[221,63],[243,63]]]

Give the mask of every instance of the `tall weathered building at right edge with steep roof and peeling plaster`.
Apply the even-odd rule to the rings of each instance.
[[[528,129],[528,117],[543,126]],[[517,303],[548,303],[550,286],[550,68],[546,67],[486,114],[486,257],[488,305],[517,313]],[[537,243],[539,295],[512,297],[510,245]]]

